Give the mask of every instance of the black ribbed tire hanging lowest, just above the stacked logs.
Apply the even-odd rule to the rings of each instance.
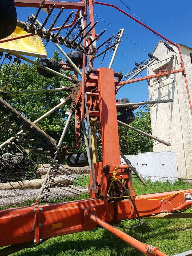
[[[87,154],[73,154],[67,157],[67,165],[71,167],[88,166]]]

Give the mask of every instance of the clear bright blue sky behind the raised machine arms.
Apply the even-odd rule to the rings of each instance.
[[[75,2],[72,1],[72,2]],[[191,34],[191,9],[192,1],[185,0],[167,0],[167,1],[127,1],[122,0],[129,9],[123,5],[120,0],[98,0],[98,2],[111,3],[119,8],[123,9],[133,17],[137,18],[131,11],[133,11],[147,26],[156,30],[160,34],[164,35],[175,43],[182,43],[186,46],[192,47],[192,34]],[[18,19],[21,21],[27,21],[27,17],[33,13],[35,14],[37,9],[17,7]],[[53,14],[57,15],[58,9],[54,10]],[[112,68],[114,71],[122,71],[126,74],[135,67],[134,62],[141,62],[148,58],[147,53],[152,53],[157,45],[159,38],[151,31],[145,29],[135,21],[131,20],[126,15],[120,13],[118,10],[102,5],[94,5],[94,21],[98,21],[95,27],[96,33],[101,33],[103,29],[106,32],[101,36],[100,42],[104,42],[111,35],[117,33],[116,30],[121,28],[125,29],[122,42],[120,43],[118,53],[115,57]],[[69,15],[69,10],[64,10],[61,19]],[[97,15],[97,16],[96,16]],[[46,17],[46,13],[41,11],[38,17],[42,23]],[[50,22],[47,23],[46,28],[49,27],[51,21],[55,17],[51,15]],[[63,21],[59,19],[56,26],[61,26]],[[107,23],[108,24],[107,24]],[[116,30],[115,30],[116,29]],[[61,33],[61,35],[63,35]],[[131,42],[131,41],[132,42]],[[97,46],[100,44],[97,43]],[[64,45],[62,46],[66,53],[69,49]],[[47,46],[47,57],[53,56],[53,51],[57,50],[54,44],[50,41]],[[165,49],[166,50],[166,49]],[[122,56],[123,55],[123,56]],[[98,57],[94,61],[94,67],[98,68],[108,67],[110,63],[112,53],[106,54],[104,62],[101,64],[102,56]],[[62,54],[60,54],[62,57]],[[142,72],[142,75],[146,75],[146,71]],[[140,77],[140,75],[138,75]],[[133,83],[125,85],[119,90],[117,98],[128,97],[131,102],[145,101],[149,99],[147,82]]]

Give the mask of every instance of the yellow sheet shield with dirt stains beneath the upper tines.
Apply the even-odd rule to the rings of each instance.
[[[16,27],[13,34],[11,34],[8,38],[18,37],[20,35],[26,35],[27,32],[23,31],[22,28]],[[6,53],[16,53],[21,55],[28,55],[40,58],[46,58],[47,52],[43,45],[43,42],[40,37],[37,35],[31,37],[25,37],[5,43],[0,43],[0,51]]]

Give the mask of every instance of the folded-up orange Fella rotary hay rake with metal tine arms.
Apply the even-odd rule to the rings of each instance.
[[[2,2],[4,5],[2,5]],[[15,6],[37,7],[38,11],[36,15],[31,14],[27,22],[17,21],[17,15],[15,14],[16,11],[14,12],[14,2]],[[129,160],[126,159],[119,149],[118,125],[127,126],[129,129],[141,134],[141,136],[145,136],[147,139],[152,139],[153,143],[163,143],[170,146],[169,142],[163,141],[151,134],[136,129],[133,126],[130,126],[129,123],[134,121],[135,117],[132,111],[138,107],[143,105],[153,106],[154,104],[173,102],[173,100],[167,99],[164,101],[130,103],[127,98],[116,100],[115,96],[117,91],[126,84],[144,80],[149,81],[149,79],[163,76],[169,77],[171,74],[180,72],[185,77],[185,83],[188,89],[185,67],[179,47],[167,38],[147,27],[142,22],[131,17],[125,11],[111,4],[94,2],[93,0],[82,0],[80,2],[49,0],[31,0],[26,2],[24,0],[15,0],[14,2],[0,2],[5,13],[8,3],[13,7],[13,17],[7,21],[7,24],[10,24],[10,26],[7,26],[6,24],[7,29],[5,29],[2,22],[1,31],[4,32],[1,32],[0,36],[2,40],[0,43],[14,42],[14,40],[21,40],[23,38],[33,37],[34,35],[42,38],[47,43],[52,41],[66,58],[66,63],[62,61],[59,65],[63,70],[73,71],[74,75],[68,77],[65,74],[60,73],[60,66],[58,67],[58,63],[54,61],[45,59],[38,63],[31,61],[30,59],[19,55],[17,53],[16,46],[14,50],[5,50],[6,53],[4,57],[3,52],[0,54],[0,58],[2,58],[3,61],[5,59],[9,60],[9,65],[5,71],[7,77],[4,77],[2,83],[0,122],[2,125],[2,131],[7,130],[11,135],[7,141],[0,145],[0,164],[2,166],[0,177],[3,177],[4,181],[10,182],[11,179],[7,177],[7,173],[9,173],[9,175],[11,175],[20,186],[22,186],[22,180],[19,177],[19,174],[15,172],[15,168],[18,167],[19,170],[23,171],[23,175],[25,175],[26,178],[32,178],[26,165],[23,165],[22,158],[25,159],[27,165],[30,165],[35,173],[37,173],[38,169],[27,150],[32,150],[38,157],[39,162],[43,159],[47,163],[50,163],[50,167],[35,203],[27,207],[0,210],[0,227],[1,230],[3,230],[0,234],[0,246],[8,246],[1,249],[1,255],[9,255],[14,251],[18,251],[23,248],[34,247],[46,241],[50,237],[91,230],[98,225],[110,231],[146,255],[166,255],[155,247],[155,245],[145,245],[137,239],[118,230],[113,225],[117,225],[125,219],[135,219],[137,223],[139,223],[129,228],[139,227],[143,223],[142,217],[150,218],[153,217],[154,214],[157,214],[159,218],[169,218],[166,216],[168,213],[169,216],[171,214],[172,217],[174,216],[175,218],[186,218],[185,215],[181,215],[179,213],[192,206],[192,201],[185,202],[184,195],[186,192],[189,193],[191,189],[162,192],[158,194],[135,195],[132,184],[132,171],[137,175],[143,185],[146,185],[146,182],[142,179],[137,170],[131,166]],[[140,25],[157,34],[159,37],[172,43],[179,51],[181,69],[172,70],[171,61],[173,63],[173,58],[177,58],[176,56],[173,56],[170,60],[170,65],[168,65],[169,68],[167,66],[167,69],[163,72],[142,78],[135,78],[147,67],[162,61],[159,61],[155,56],[148,54],[149,59],[142,61],[140,64],[135,63],[136,67],[126,75],[123,76],[121,72],[114,72],[113,69],[111,69],[111,66],[122,40],[124,29],[119,30],[117,35],[112,35],[97,47],[97,41],[99,39],[101,40],[101,36],[106,30],[103,30],[100,34],[95,34],[97,22],[94,23],[94,4],[116,8],[118,11],[121,11]],[[87,12],[88,6],[89,12]],[[47,17],[43,24],[38,21],[38,15],[42,8],[47,9]],[[54,9],[60,9],[60,11],[49,29],[45,29],[45,25],[48,19],[50,19],[50,15]],[[75,10],[75,14],[74,11],[72,11],[67,16],[61,27],[54,27],[58,18],[62,15],[63,9]],[[87,16],[89,16],[90,22],[87,22]],[[22,27],[22,29],[27,33],[17,37],[5,38],[13,33],[16,26],[20,28]],[[6,34],[3,35],[5,31]],[[53,31],[58,32],[53,33]],[[60,33],[64,33],[65,35],[60,35]],[[66,54],[60,45],[64,45],[75,51]],[[101,47],[105,49],[100,52],[99,49]],[[109,51],[113,51],[109,67],[99,67],[94,69],[94,59],[100,55],[103,55],[104,58],[106,53]],[[23,54],[25,55],[25,53]],[[17,91],[13,91],[12,88],[14,78],[17,73],[16,70],[11,89],[7,89],[9,74],[13,66],[13,64],[10,64],[12,55],[15,56],[13,63],[17,63],[17,69],[19,68],[21,60],[25,60],[36,65],[39,74],[46,77],[59,76],[73,83],[73,86],[61,86],[61,88],[47,90],[39,89],[23,91],[19,91],[18,88]],[[86,69],[87,62],[89,62],[89,67]],[[122,79],[123,81],[121,81]],[[10,97],[14,97],[15,94],[48,93],[55,91],[68,91],[71,94],[67,98],[61,99],[61,102],[57,106],[53,107],[53,109],[49,110],[34,122],[31,122],[11,105]],[[7,101],[10,101],[10,103]],[[71,109],[66,112],[68,118],[59,142],[57,143],[36,124],[53,113],[56,109],[61,108],[67,102],[71,102]],[[190,97],[189,103],[191,108]],[[118,116],[117,112],[120,112]],[[79,149],[82,139],[80,138],[79,131],[80,126],[82,126],[87,154],[70,155],[67,162],[70,166],[89,165],[91,171],[90,184],[88,186],[91,197],[90,199],[75,200],[73,196],[79,194],[78,187],[74,188],[73,186],[63,185],[55,181],[55,177],[58,177],[61,174],[65,175],[64,179],[71,177],[70,168],[66,168],[66,166],[59,164],[56,158],[61,149],[63,138],[67,132],[67,127],[69,126],[72,115],[75,115],[76,146],[71,147],[70,149]],[[87,123],[88,139],[85,119]],[[21,131],[19,131],[20,129]],[[99,136],[101,137],[102,162],[98,161],[97,132],[99,132]],[[31,143],[33,144],[31,145]],[[5,155],[7,157],[5,157]],[[121,165],[120,155],[126,162],[125,165]],[[77,185],[80,179],[79,176],[76,177],[74,181]],[[47,183],[48,180],[51,181],[51,183]],[[13,187],[11,183],[10,185]],[[64,196],[62,192],[66,190],[70,191],[73,196]],[[47,200],[50,197],[60,199],[62,202],[49,204],[47,203]],[[70,201],[63,202],[66,201],[65,199],[69,199]],[[39,206],[38,200],[45,202],[46,204]],[[189,253],[190,252],[186,252],[185,255],[189,255]]]

